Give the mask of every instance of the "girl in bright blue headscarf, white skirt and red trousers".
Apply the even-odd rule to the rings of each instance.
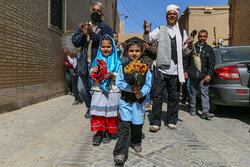
[[[102,66],[100,62],[103,62]],[[91,131],[96,131],[93,136],[95,146],[101,142],[109,143],[111,133],[117,133],[120,89],[115,85],[115,78],[120,66],[121,60],[113,38],[104,35],[90,70],[90,74],[95,76],[101,75],[103,69],[107,70],[103,80],[96,79],[91,88],[93,91],[90,107]]]

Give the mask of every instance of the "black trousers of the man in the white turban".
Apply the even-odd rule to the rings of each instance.
[[[180,96],[180,83],[178,75],[163,74],[156,69],[154,72],[154,98],[150,125],[161,126],[162,104],[166,90],[168,92],[168,108],[167,116],[164,118],[164,121],[168,124],[177,123]]]

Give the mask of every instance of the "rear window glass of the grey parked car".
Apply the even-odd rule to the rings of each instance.
[[[250,60],[250,47],[223,48],[220,52],[224,62]]]

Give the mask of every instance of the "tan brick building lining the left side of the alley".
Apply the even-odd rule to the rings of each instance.
[[[66,93],[60,40],[89,20],[93,2],[0,0],[0,113]],[[100,2],[104,22],[117,30],[116,1]]]

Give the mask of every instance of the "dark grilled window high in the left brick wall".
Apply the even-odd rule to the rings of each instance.
[[[66,31],[66,0],[48,0],[48,27],[63,33]]]

